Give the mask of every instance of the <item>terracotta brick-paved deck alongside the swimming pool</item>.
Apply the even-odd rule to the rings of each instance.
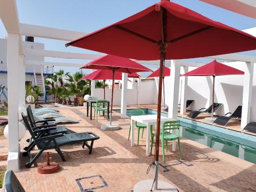
[[[92,155],[79,144],[61,147],[66,162],[61,161],[56,151],[49,150],[51,160],[60,165],[60,170],[50,175],[38,174],[35,166],[25,168],[28,157],[21,157],[21,169],[16,175],[26,191],[83,191],[82,188],[99,187],[93,191],[130,192],[138,181],[153,178],[154,169],[146,175],[154,156],[145,155],[145,135],[140,138],[139,146],[131,147],[127,140],[130,118],[121,119],[120,114],[114,112],[114,123],[119,124],[121,129],[101,131],[100,125],[107,121],[102,116],[98,118],[98,122],[94,119],[90,121],[85,107],[58,109],[61,114],[79,120],[78,124],[67,124],[69,129],[76,132],[92,131],[100,139],[94,142]],[[27,133],[20,141],[21,149],[27,145],[25,140],[28,137]],[[171,147],[172,143],[169,144],[169,149]],[[181,138],[181,150],[181,162],[177,160],[178,151],[168,151],[166,163],[162,162],[160,156],[159,169],[159,179],[175,185],[179,191],[256,191],[255,164],[185,138]],[[44,160],[45,156],[41,155],[37,162]]]

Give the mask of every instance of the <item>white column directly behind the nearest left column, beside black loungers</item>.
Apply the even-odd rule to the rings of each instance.
[[[25,81],[26,81],[26,65],[25,65],[25,56],[24,55],[19,55],[18,56],[18,115],[19,119],[22,119],[21,113],[23,112],[26,114],[26,108],[25,108],[25,95],[26,95],[26,90],[25,90]]]

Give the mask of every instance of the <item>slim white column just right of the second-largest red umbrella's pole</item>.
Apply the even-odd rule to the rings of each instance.
[[[122,73],[121,118],[126,117],[128,74]]]

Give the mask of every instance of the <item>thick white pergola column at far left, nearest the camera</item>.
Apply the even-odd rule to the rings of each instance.
[[[19,85],[19,35],[8,33],[7,85],[8,85],[8,159],[7,170],[19,171],[18,141],[18,85]]]

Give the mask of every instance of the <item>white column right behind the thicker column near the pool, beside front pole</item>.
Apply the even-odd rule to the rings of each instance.
[[[183,66],[184,69],[184,74],[187,73],[188,67]],[[180,100],[180,114],[184,115],[186,114],[186,91],[187,91],[187,76],[182,77],[182,82],[181,82],[181,100]]]

